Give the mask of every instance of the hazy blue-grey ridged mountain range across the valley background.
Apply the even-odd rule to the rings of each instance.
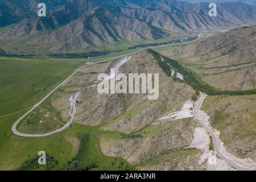
[[[122,42],[152,42],[170,32],[191,33],[255,24],[254,6],[219,3],[209,17],[208,3],[174,0],[40,1],[47,16],[36,16],[39,0],[0,1],[1,45],[23,52],[82,52]]]

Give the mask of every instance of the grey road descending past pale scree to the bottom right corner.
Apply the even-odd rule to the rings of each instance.
[[[214,133],[212,128],[209,125],[207,125],[207,123],[204,122],[204,119],[201,118],[199,113],[198,113],[199,109],[200,109],[200,104],[201,104],[201,102],[203,102],[203,100],[204,100],[204,94],[202,92],[200,92],[200,98],[195,103],[195,107],[193,109],[193,115],[201,123],[201,125],[208,131],[208,133],[212,137],[214,152],[216,152],[216,155],[219,158],[221,158],[222,160],[224,160],[226,163],[228,163],[230,166],[232,166],[232,167],[234,167],[238,170],[241,170],[241,171],[251,171],[251,170],[253,170],[251,168],[242,167],[240,164],[237,164],[237,163],[227,159],[224,155],[221,154],[221,151],[218,147],[218,137],[216,136],[216,134]]]

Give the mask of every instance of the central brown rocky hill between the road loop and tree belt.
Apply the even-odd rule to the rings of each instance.
[[[109,73],[114,64],[116,63],[110,64],[105,72]],[[148,100],[148,94],[98,94],[97,86],[90,86],[81,91],[80,99],[84,102],[77,107],[77,122],[90,126],[104,124],[106,130],[131,133],[150,125],[155,119],[166,114],[167,107],[179,107],[180,102],[186,101],[193,94],[190,86],[168,77],[148,51],[135,53],[118,71],[126,75],[159,73],[159,98]]]

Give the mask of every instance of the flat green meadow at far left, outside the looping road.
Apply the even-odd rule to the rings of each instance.
[[[83,62],[0,57],[0,115],[34,105]]]

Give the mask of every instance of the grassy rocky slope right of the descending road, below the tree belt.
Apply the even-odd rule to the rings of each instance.
[[[210,115],[214,129],[220,131],[224,146],[237,158],[256,162],[256,95],[209,96],[203,109]]]

